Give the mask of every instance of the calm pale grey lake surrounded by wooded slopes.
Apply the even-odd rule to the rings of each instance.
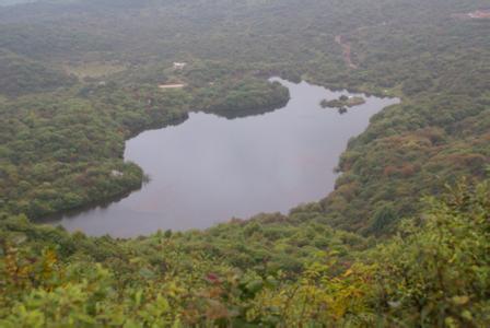
[[[89,235],[130,237],[288,212],[327,196],[349,139],[371,116],[398,103],[369,96],[340,115],[319,103],[347,92],[272,80],[290,90],[283,108],[235,119],[191,113],[178,126],[142,132],[126,142],[125,160],[140,165],[150,181],[119,201],[52,223]]]

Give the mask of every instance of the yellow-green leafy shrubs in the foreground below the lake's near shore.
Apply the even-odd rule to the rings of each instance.
[[[490,184],[459,184],[423,212],[373,247],[331,229],[325,245],[283,245],[306,226],[266,218],[131,241],[5,220],[0,326],[488,326]],[[299,270],[233,263],[240,237],[250,259],[290,246]]]

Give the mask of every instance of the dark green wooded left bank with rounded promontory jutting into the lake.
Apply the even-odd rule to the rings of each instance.
[[[0,104],[3,211],[37,219],[122,196],[143,179],[137,165],[122,161],[130,136],[182,122],[191,109],[236,117],[289,99],[278,83],[223,79],[185,91],[104,81],[5,99]]]

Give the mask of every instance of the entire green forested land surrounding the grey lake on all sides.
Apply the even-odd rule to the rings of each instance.
[[[0,9],[0,326],[488,326],[490,195],[476,181],[490,164],[490,20],[452,16],[486,7],[60,0]],[[174,61],[188,65],[174,70]],[[85,68],[83,79],[69,68]],[[267,82],[275,74],[402,99],[351,140],[336,190],[318,203],[133,241],[23,219],[138,188],[143,173],[121,155],[143,129],[189,110],[236,117],[281,106],[287,92]],[[466,184],[441,196],[462,176]],[[423,206],[425,195],[440,200]]]

